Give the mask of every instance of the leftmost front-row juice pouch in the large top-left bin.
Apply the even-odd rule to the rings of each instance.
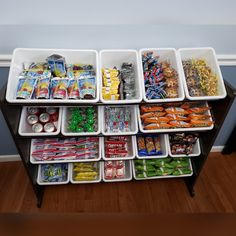
[[[36,78],[20,78],[17,86],[16,98],[31,99],[36,83]]]

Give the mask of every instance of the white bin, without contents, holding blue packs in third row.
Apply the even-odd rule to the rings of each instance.
[[[145,137],[145,135],[143,135]],[[155,158],[165,158],[168,156],[168,145],[167,145],[167,135],[161,134],[160,135],[160,141],[161,141],[161,155],[153,155],[153,156],[139,156],[138,154],[138,143],[137,143],[137,137],[135,137],[135,149],[136,149],[136,157],[138,159],[155,159]]]

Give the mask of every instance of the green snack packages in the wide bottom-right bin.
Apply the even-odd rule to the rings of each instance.
[[[187,158],[161,158],[150,160],[134,160],[136,178],[158,176],[191,175],[190,160]]]

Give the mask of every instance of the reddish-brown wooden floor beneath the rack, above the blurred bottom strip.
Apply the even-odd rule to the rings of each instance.
[[[182,179],[50,186],[38,209],[21,162],[0,163],[0,212],[236,212],[236,154],[211,154],[195,192]]]

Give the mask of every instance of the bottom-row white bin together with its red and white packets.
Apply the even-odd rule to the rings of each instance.
[[[130,161],[104,161],[102,165],[104,182],[122,182],[132,179]]]

